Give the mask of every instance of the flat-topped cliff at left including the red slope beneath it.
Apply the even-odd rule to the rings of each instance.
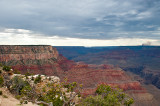
[[[22,73],[54,74],[50,72],[56,72],[53,67],[58,56],[52,46],[0,46],[0,62]]]

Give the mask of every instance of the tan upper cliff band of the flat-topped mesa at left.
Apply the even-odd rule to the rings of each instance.
[[[0,61],[36,60],[57,58],[58,52],[52,46],[0,46]]]

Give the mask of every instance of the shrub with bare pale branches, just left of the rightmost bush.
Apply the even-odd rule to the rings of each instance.
[[[62,88],[67,88],[67,92],[70,92],[70,95],[67,95],[66,91]],[[59,84],[55,83],[47,83],[44,88],[42,88],[41,95],[38,96],[38,101],[44,101],[46,103],[53,103],[53,106],[70,106],[70,104],[74,104],[75,97],[80,96],[79,92],[79,84],[76,82],[68,83],[61,82]],[[74,92],[73,91],[77,91]]]

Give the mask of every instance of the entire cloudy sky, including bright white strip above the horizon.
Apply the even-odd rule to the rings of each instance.
[[[160,45],[160,0],[0,0],[0,45]]]

